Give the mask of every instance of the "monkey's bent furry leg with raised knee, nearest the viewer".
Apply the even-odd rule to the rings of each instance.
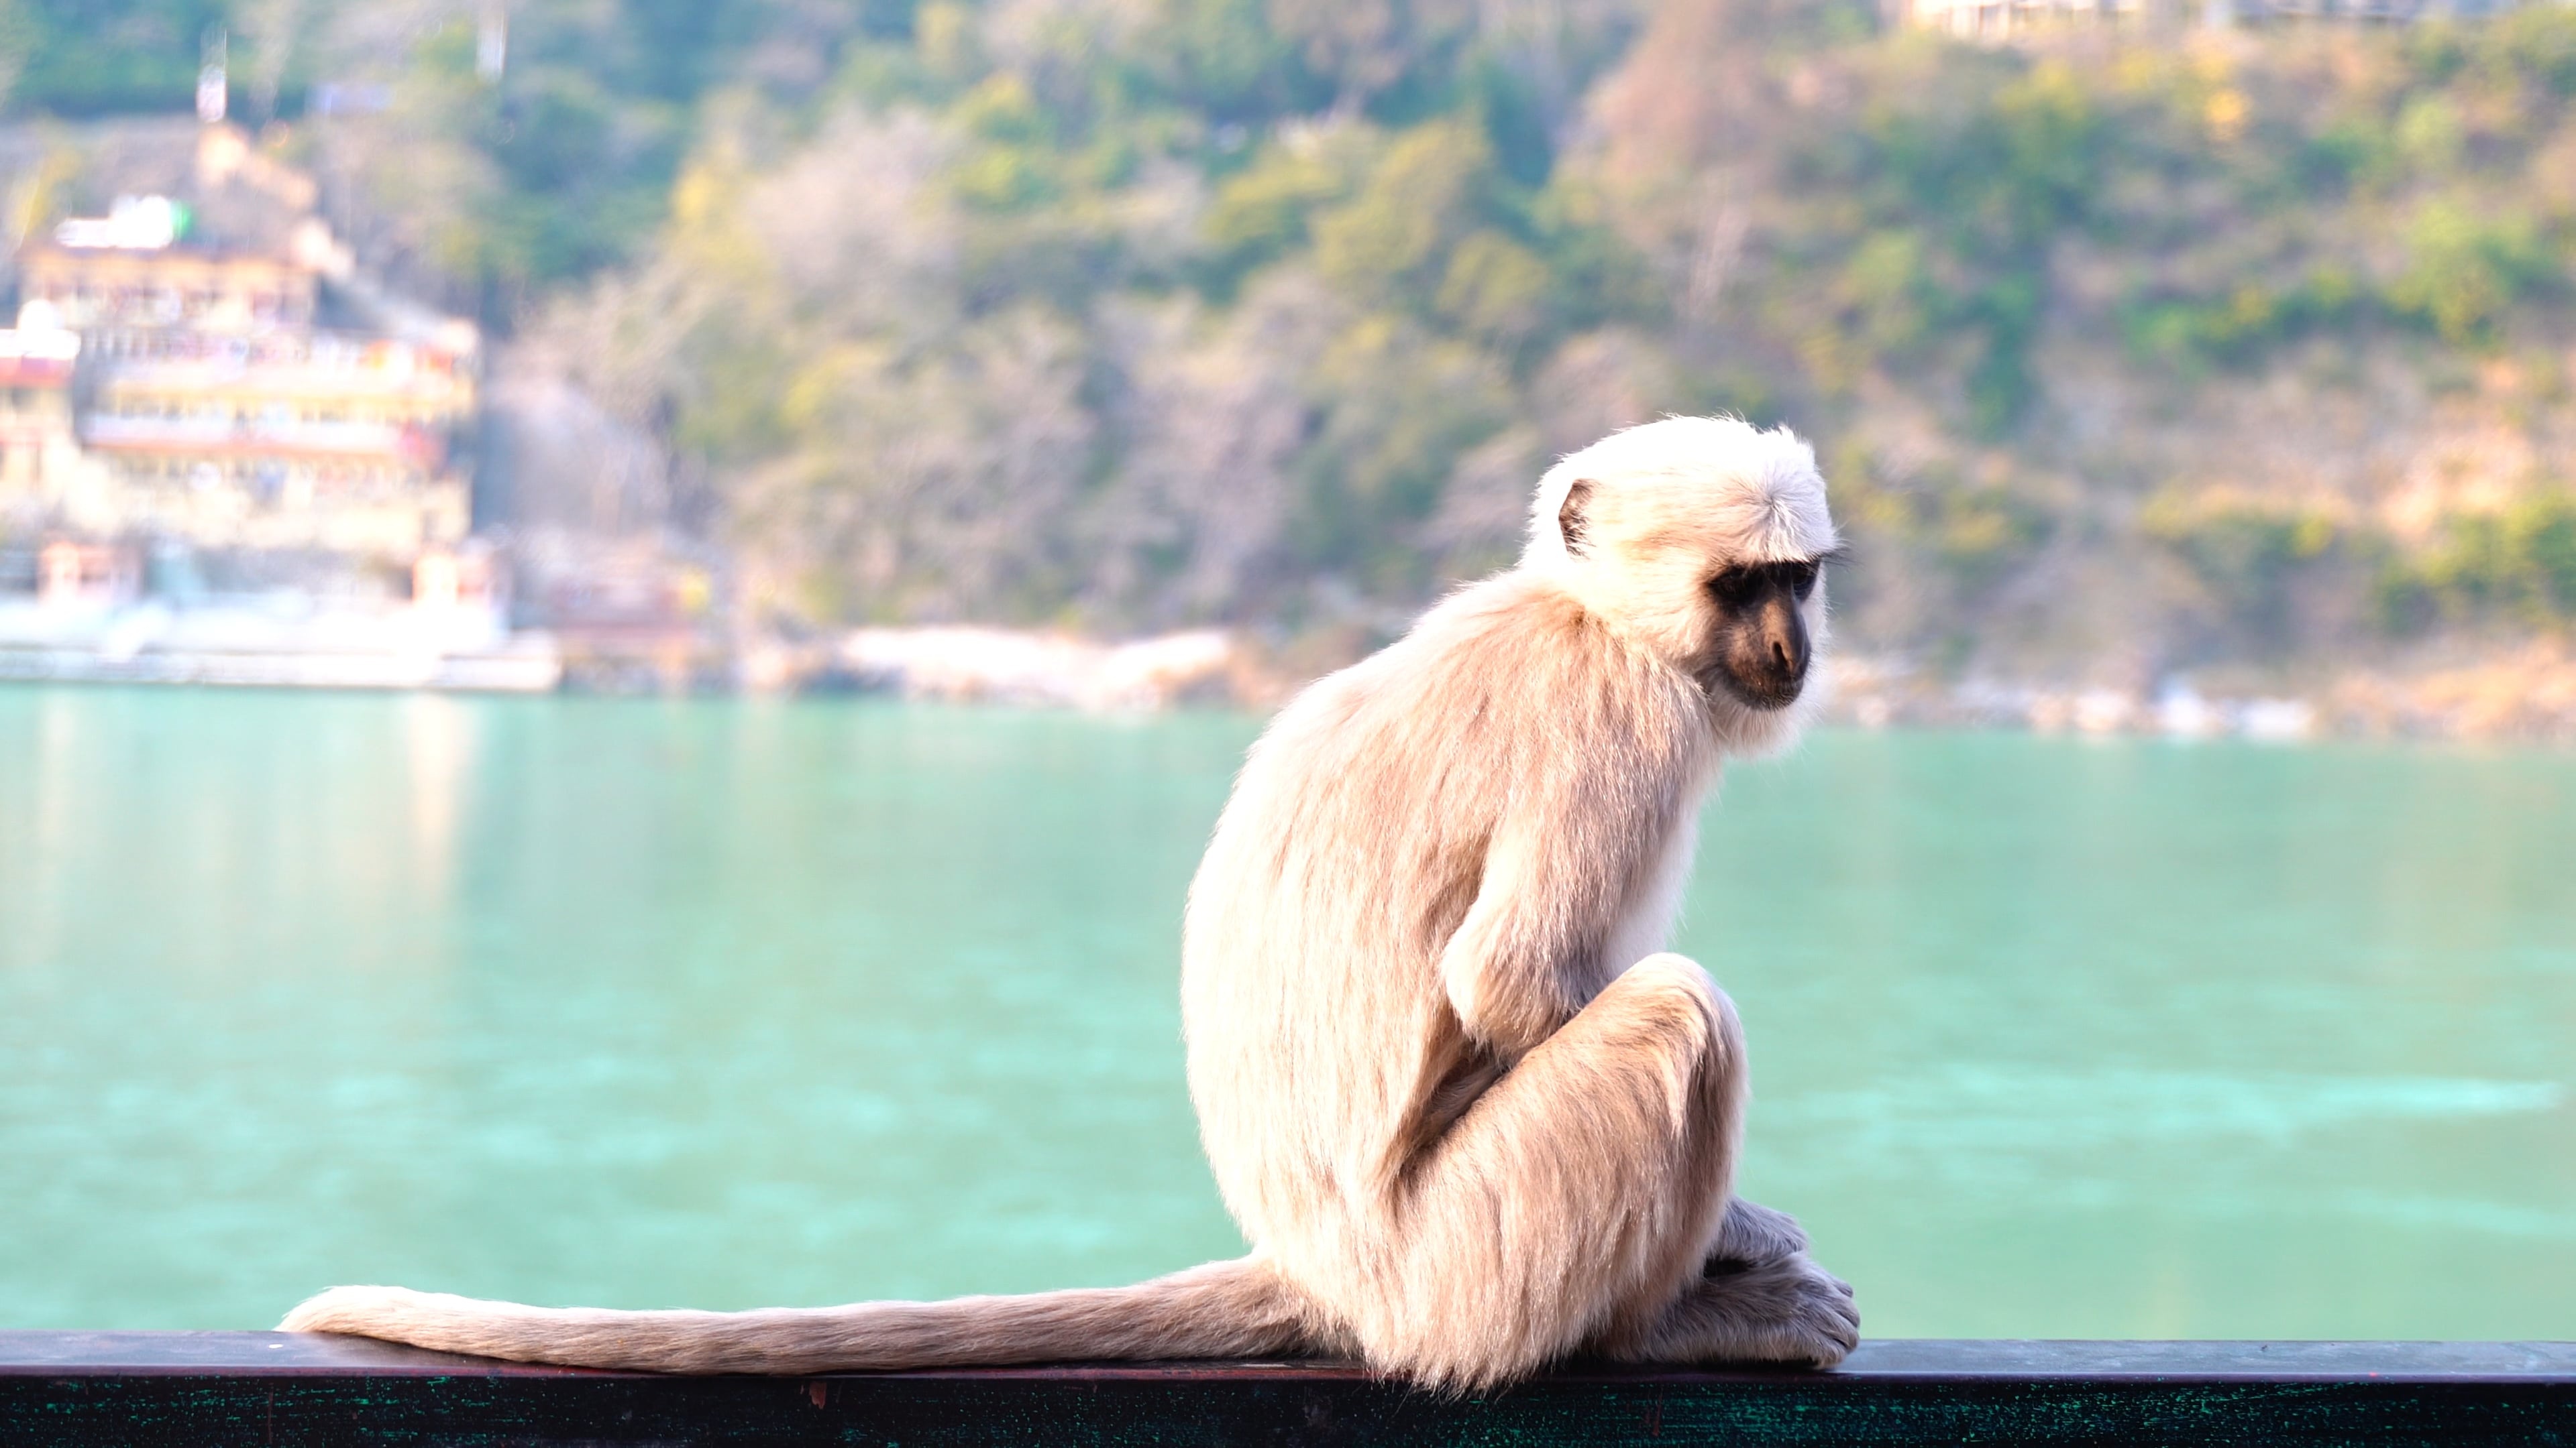
[[[1412,1162],[1391,1260],[1334,1306],[1370,1360],[1437,1384],[1649,1340],[1721,1239],[1741,1108],[1734,1005],[1700,966],[1649,956]],[[1795,1327],[1754,1348],[1842,1355]]]

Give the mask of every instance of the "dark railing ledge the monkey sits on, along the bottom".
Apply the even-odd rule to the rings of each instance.
[[[1342,1363],[819,1378],[531,1368],[286,1332],[0,1332],[0,1443],[2537,1443],[2576,1342],[1868,1342],[1832,1373],[1571,1366],[1443,1399]]]

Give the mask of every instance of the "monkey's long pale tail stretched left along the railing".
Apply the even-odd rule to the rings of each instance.
[[[278,1327],[520,1363],[659,1373],[1244,1358],[1314,1342],[1298,1293],[1260,1257],[1208,1262],[1131,1288],[760,1311],[603,1311],[410,1288],[330,1288]]]

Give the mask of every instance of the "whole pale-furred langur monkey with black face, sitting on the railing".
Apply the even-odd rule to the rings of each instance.
[[[1180,982],[1244,1257],[726,1314],[332,1288],[283,1327],[677,1373],[1337,1355],[1455,1391],[1569,1355],[1832,1366],[1852,1291],[1734,1196],[1744,1031],[1662,948],[1718,763],[1803,721],[1834,554],[1788,430],[1628,428],[1548,469],[1517,567],[1270,721]]]

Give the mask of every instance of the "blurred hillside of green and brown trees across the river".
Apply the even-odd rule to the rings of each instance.
[[[1816,438],[1901,706],[2576,727],[2576,8],[523,0],[505,67],[495,15],[10,0],[0,70],[167,108],[229,26],[234,116],[551,420],[505,505],[721,544],[781,629],[1311,667],[1507,559],[1551,456],[1739,410]]]

